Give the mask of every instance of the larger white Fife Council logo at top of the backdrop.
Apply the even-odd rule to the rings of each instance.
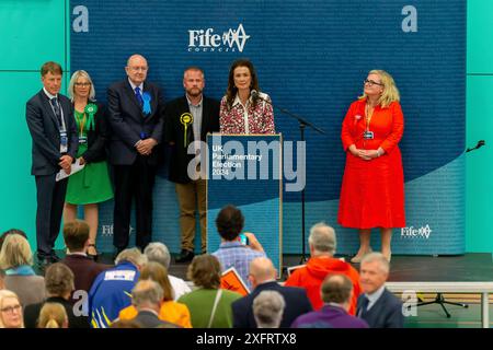
[[[214,28],[190,30],[188,52],[243,52],[249,38],[241,23],[238,28],[229,28],[222,35],[215,34]]]

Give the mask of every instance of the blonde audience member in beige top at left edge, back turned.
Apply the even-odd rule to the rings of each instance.
[[[45,300],[45,279],[33,268],[30,243],[20,234],[9,234],[0,250],[0,269],[5,270],[5,289],[19,295],[23,307]]]

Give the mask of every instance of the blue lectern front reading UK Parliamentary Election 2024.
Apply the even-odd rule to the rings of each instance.
[[[282,137],[214,135],[207,141],[202,152],[208,159],[200,162],[208,164],[204,172],[207,174],[207,249],[215,252],[220,244],[220,236],[215,233],[219,211],[234,205],[244,217],[243,232],[255,235],[280,273],[283,164],[293,170],[291,156],[282,161]]]

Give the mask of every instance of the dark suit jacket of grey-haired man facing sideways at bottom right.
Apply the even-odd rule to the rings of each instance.
[[[356,315],[365,319],[370,328],[403,328],[402,302],[387,289],[366,313],[362,313],[364,295],[358,298]]]

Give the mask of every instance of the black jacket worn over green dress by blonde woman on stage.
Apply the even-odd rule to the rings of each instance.
[[[101,103],[91,101],[89,103],[95,104],[98,106],[98,112],[94,115],[94,129],[88,130],[88,150],[82,154],[82,158],[88,164],[106,160],[106,143],[108,139],[105,106]],[[78,130],[78,132],[80,130]]]

